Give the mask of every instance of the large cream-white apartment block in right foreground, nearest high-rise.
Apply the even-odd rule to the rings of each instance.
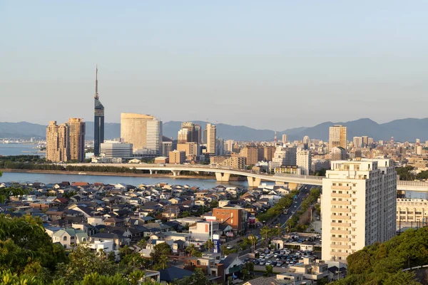
[[[333,161],[322,180],[322,260],[342,260],[396,232],[392,160]]]

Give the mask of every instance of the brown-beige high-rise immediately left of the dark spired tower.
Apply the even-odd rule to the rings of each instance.
[[[85,133],[86,123],[81,118],[69,118],[69,144],[70,144],[70,160],[83,162],[85,160]]]

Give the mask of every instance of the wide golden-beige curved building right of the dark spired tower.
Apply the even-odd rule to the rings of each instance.
[[[151,115],[121,113],[121,139],[132,143],[133,150],[147,147],[147,121],[156,120]]]

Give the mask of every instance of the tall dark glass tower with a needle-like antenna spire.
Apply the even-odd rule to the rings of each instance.
[[[104,142],[104,106],[98,96],[98,67],[95,71],[95,96],[93,110],[93,155],[100,155],[101,143]]]

